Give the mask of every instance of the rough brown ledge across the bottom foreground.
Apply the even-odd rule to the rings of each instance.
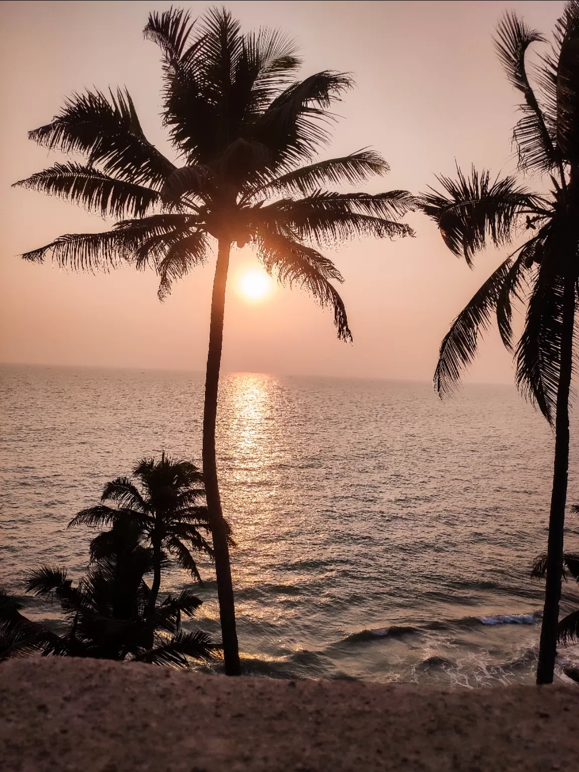
[[[579,686],[228,679],[91,659],[0,665],[2,772],[579,770]]]

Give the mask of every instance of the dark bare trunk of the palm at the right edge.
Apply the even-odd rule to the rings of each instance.
[[[573,329],[575,318],[575,281],[567,276],[563,294],[563,331],[561,334],[560,373],[557,387],[555,417],[555,462],[553,491],[547,543],[547,584],[543,607],[543,624],[539,643],[537,683],[553,683],[557,655],[559,600],[563,574],[563,528],[567,503],[567,471],[569,469],[569,391],[573,365]]]

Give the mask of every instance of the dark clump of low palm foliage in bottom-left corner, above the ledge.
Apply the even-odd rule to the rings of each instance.
[[[106,545],[106,547],[104,546]],[[0,659],[42,654],[98,659],[131,659],[188,667],[188,657],[215,659],[218,648],[204,632],[185,632],[182,615],[201,605],[190,590],[155,604],[151,637],[151,589],[144,574],[153,568],[153,550],[144,546],[134,522],[117,520],[91,543],[93,560],[75,586],[66,569],[42,566],[31,571],[26,590],[52,601],[56,596],[68,620],[64,635],[20,614],[21,604],[0,591]]]

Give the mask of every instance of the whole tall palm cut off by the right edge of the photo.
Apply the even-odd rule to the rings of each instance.
[[[574,319],[579,279],[579,4],[567,3],[557,21],[554,45],[534,70],[526,53],[544,42],[513,14],[497,28],[496,50],[510,83],[523,93],[523,117],[513,140],[521,171],[543,175],[547,194],[533,195],[513,176],[491,181],[488,171],[458,169],[456,179],[438,178],[442,192],[422,196],[422,208],[438,224],[446,245],[471,265],[487,242],[504,245],[525,234],[523,245],[472,297],[442,340],[435,387],[448,394],[476,354],[479,334],[493,313],[507,348],[513,347],[513,300],[527,303],[516,344],[516,382],[555,430],[553,492],[547,546],[547,584],[537,682],[553,680],[563,569],[563,529],[569,464],[569,397]]]

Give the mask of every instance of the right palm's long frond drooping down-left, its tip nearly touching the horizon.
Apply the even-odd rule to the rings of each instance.
[[[451,394],[460,382],[462,371],[475,357],[480,330],[488,330],[499,295],[509,276],[513,258],[501,263],[472,296],[445,335],[438,354],[434,376],[436,391]]]

